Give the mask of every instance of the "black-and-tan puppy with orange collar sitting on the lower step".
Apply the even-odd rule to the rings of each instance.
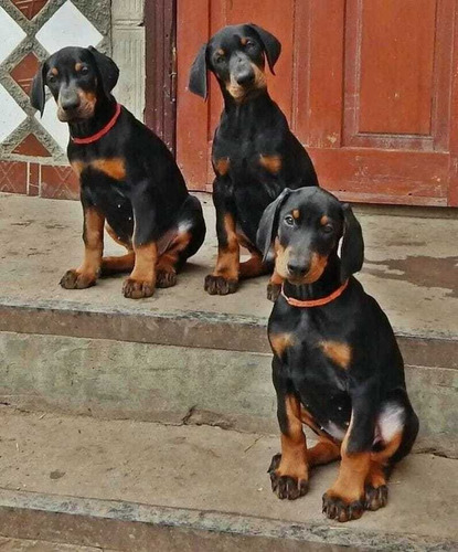
[[[259,248],[267,255],[273,245],[285,282],[268,323],[281,431],[271,488],[296,499],[310,468],[341,457],[323,512],[358,519],[386,505],[391,467],[418,432],[403,359],[385,314],[352,276],[364,244],[348,204],[320,188],[285,190],[259,225]],[[302,424],[318,435],[310,449]]]

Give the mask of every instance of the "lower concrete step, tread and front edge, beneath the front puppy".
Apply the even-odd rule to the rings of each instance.
[[[313,470],[299,500],[273,495],[266,470],[277,437],[2,407],[0,443],[0,535],[55,546],[43,550],[458,546],[458,461],[432,454],[398,465],[386,508],[339,524],[321,513],[337,464]]]

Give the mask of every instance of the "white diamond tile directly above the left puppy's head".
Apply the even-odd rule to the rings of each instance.
[[[50,53],[64,46],[96,46],[103,35],[68,0],[36,33],[36,40]]]

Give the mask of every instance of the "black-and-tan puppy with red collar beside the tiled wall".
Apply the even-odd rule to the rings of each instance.
[[[82,289],[100,274],[131,270],[123,290],[138,299],[177,283],[203,243],[205,223],[166,145],[113,97],[118,74],[92,46],[64,47],[35,75],[31,104],[43,114],[46,85],[68,124],[68,160],[81,182],[84,261],[65,273],[62,287]],[[103,257],[104,223],[126,255]]]

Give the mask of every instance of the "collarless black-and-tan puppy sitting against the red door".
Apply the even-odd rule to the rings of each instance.
[[[256,247],[264,210],[286,187],[318,185],[307,151],[267,92],[265,59],[274,73],[280,50],[278,40],[255,24],[225,26],[201,47],[191,70],[191,92],[206,98],[211,71],[224,98],[212,152],[219,254],[205,278],[211,295],[232,294],[241,278],[270,272],[271,259],[263,262]],[[245,263],[239,263],[241,245],[251,253]],[[274,273],[269,299],[280,284]]]

